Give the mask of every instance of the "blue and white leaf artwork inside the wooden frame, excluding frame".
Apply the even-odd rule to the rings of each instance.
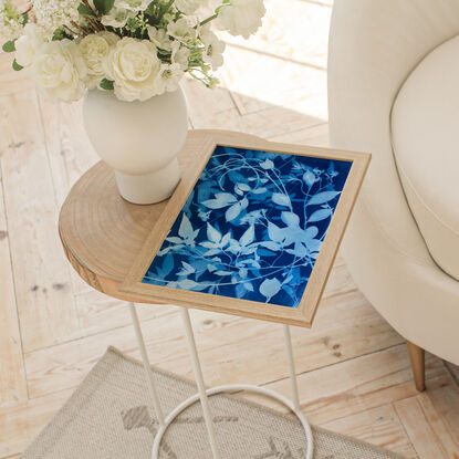
[[[217,146],[143,283],[298,307],[351,166]]]

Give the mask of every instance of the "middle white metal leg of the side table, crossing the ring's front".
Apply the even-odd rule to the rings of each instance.
[[[187,307],[180,307],[181,319],[184,320],[185,332],[187,334],[189,353],[191,356],[192,369],[195,372],[196,384],[198,385],[199,398],[201,400],[204,419],[206,421],[207,432],[209,435],[210,448],[212,450],[213,459],[220,459],[220,453],[217,448],[216,432],[213,429],[213,421],[210,415],[209,400],[206,394],[206,386],[204,384],[201,365],[199,363],[198,351],[196,348],[195,334],[192,333],[192,325]]]

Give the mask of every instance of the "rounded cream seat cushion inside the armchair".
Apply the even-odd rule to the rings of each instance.
[[[459,36],[430,52],[392,112],[393,150],[411,212],[437,264],[459,280]]]

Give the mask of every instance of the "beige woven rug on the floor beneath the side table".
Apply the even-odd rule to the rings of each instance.
[[[154,369],[161,405],[168,413],[196,393],[196,386]],[[306,445],[293,415],[282,415],[236,396],[210,398],[221,457],[225,459],[302,459]],[[21,456],[22,459],[150,459],[158,428],[144,371],[108,348],[70,400]],[[314,459],[403,459],[319,428]],[[160,459],[211,458],[199,404],[170,426]]]

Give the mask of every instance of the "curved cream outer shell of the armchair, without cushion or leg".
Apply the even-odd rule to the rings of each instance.
[[[343,254],[406,340],[459,365],[459,282],[431,259],[394,160],[390,114],[416,65],[459,33],[458,0],[335,0],[328,54],[332,146],[373,154]]]

